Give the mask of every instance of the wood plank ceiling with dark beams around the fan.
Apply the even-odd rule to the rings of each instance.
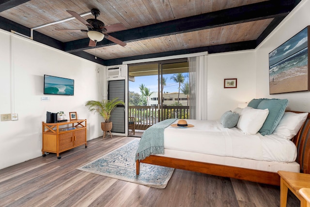
[[[33,40],[104,65],[126,60],[192,52],[209,53],[256,48],[300,0],[4,0],[0,28],[31,36],[31,28],[100,10],[105,25],[122,23],[110,33],[125,47],[107,39],[89,47],[77,19],[33,31]],[[92,15],[83,16],[93,18]],[[94,59],[94,55],[98,59]]]

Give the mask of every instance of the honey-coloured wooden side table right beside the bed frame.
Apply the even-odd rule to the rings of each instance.
[[[310,188],[310,174],[278,171],[280,175],[280,207],[286,207],[287,191],[290,189],[300,200],[301,207],[307,207],[307,201],[300,195],[301,188]]]

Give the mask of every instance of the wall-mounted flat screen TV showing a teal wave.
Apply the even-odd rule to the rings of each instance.
[[[56,76],[44,75],[44,94],[74,95],[74,80]]]

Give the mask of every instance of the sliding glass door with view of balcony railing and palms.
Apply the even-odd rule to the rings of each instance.
[[[128,116],[135,117],[137,129],[187,118],[187,59],[128,65],[128,75]]]

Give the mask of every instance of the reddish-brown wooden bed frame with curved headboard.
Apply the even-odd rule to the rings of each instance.
[[[301,113],[300,111],[291,111]],[[310,174],[310,114],[307,120],[292,139],[297,146],[296,162],[300,165],[300,172]],[[199,161],[192,161],[186,159],[175,159],[163,156],[151,155],[143,160],[136,161],[136,173],[140,173],[140,162],[171,167],[182,170],[189,170],[198,173],[205,173],[208,175],[217,175],[223,177],[231,177],[236,179],[248,180],[252,182],[280,185],[280,176],[278,173],[252,170],[247,168],[232,167],[226,165],[218,165],[212,163],[205,163]]]

